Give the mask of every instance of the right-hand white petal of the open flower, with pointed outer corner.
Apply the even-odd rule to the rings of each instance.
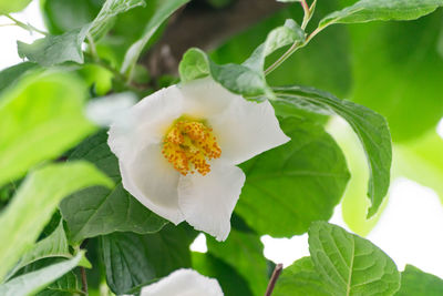
[[[290,140],[280,129],[268,102],[235,100],[229,108],[208,119],[224,161],[239,164]]]

